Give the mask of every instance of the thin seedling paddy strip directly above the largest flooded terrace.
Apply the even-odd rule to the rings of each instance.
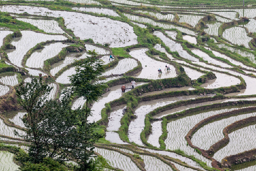
[[[118,15],[114,10],[110,10],[108,8],[72,7],[72,10],[93,12],[93,13],[96,13],[96,14],[104,14],[104,15],[111,15],[111,16],[114,16],[114,17],[120,17],[120,15]]]

